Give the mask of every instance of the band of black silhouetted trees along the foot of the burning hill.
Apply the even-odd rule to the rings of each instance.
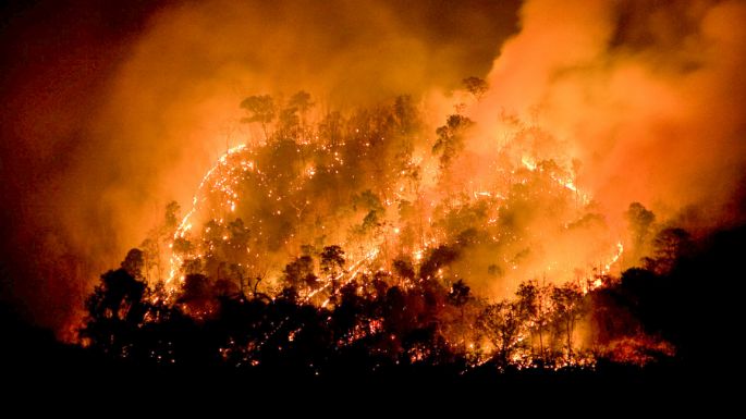
[[[661,237],[669,236],[675,243],[685,237],[678,232]],[[737,239],[744,237],[742,233]],[[479,305],[462,280],[444,287],[424,276],[402,288],[389,285],[384,275],[360,276],[342,283],[338,301],[326,308],[304,300],[294,286],[286,286],[274,299],[247,296],[236,292],[234,284],[204,274],[186,275],[175,305],[168,305],[159,297],[162,291],[151,291],[122,268],[101,275],[101,284],[86,303],[88,317],[81,337],[89,350],[142,366],[233,366],[309,375],[351,365],[356,371],[456,365],[476,350],[466,346],[467,340],[478,343],[484,337],[492,348],[489,365],[506,370],[525,362],[540,368],[579,361],[585,355],[576,350],[574,332],[589,313],[589,333],[602,345],[599,359],[641,365],[674,354],[692,357],[706,352],[707,345],[690,330],[690,324],[701,321],[692,311],[694,301],[701,301],[697,279],[712,270],[711,263],[718,263],[714,271],[720,274],[739,269],[734,264],[738,247],[731,250],[727,246],[739,245],[730,236],[718,236],[702,256],[675,254],[668,273],[631,269],[621,281],[607,281],[587,295],[575,283],[539,286],[525,282],[514,299],[487,305]],[[122,266],[137,267],[132,263],[136,255],[131,251]],[[327,246],[319,254],[325,272],[341,272],[343,255],[341,247]],[[423,267],[437,271],[453,255],[452,249],[441,248]],[[415,278],[408,262],[396,264],[398,275]],[[314,259],[305,255],[288,264],[285,281],[305,286],[303,279],[313,272]],[[448,306],[460,316],[449,320]],[[474,315],[465,318],[465,307]],[[712,316],[704,319],[714,321]],[[476,329],[449,332],[445,322],[453,321],[473,322]],[[672,342],[675,352],[657,336]],[[554,347],[552,338],[563,341],[558,345],[564,350],[546,350]],[[538,357],[533,355],[535,347]]]

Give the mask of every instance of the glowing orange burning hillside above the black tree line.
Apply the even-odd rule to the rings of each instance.
[[[267,137],[228,150],[175,231],[146,243],[147,278],[173,289],[189,273],[271,285],[289,260],[339,245],[369,271],[436,263],[423,280],[464,279],[496,297],[526,279],[592,280],[620,259],[621,233],[574,184],[580,163],[538,155],[557,143],[538,126],[514,121],[497,152],[479,156],[464,146],[468,118],[453,114],[428,136],[408,97],[316,124],[302,125],[292,104],[268,113],[284,121],[265,118]],[[474,164],[482,177],[468,175]],[[445,247],[458,250],[431,261]]]

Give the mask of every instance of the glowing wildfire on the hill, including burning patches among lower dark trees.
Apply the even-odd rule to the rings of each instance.
[[[352,187],[355,177],[360,175],[360,168],[354,167],[368,159],[367,152],[374,143],[365,143],[362,150],[354,150],[353,143],[329,145],[318,138],[302,146],[293,144],[291,150],[283,150],[284,145],[266,144],[256,149],[236,146],[205,173],[192,207],[169,244],[168,295],[181,292],[187,274],[212,269],[217,270],[218,278],[237,280],[242,293],[246,280],[248,284],[256,281],[253,283],[255,297],[262,295],[267,301],[278,298],[284,301],[291,295],[297,305],[316,306],[320,316],[329,316],[329,321],[347,301],[350,292],[368,301],[388,296],[380,294],[381,283],[375,282],[378,278],[394,278],[386,286],[396,284],[401,293],[421,297],[428,286],[449,284],[447,299],[463,305],[454,285],[461,278],[474,281],[487,274],[490,281],[502,281],[503,295],[517,295],[519,283],[525,284],[527,278],[543,272],[551,284],[539,286],[534,282],[537,298],[541,300],[535,310],[536,318],[521,313],[515,299],[503,299],[492,306],[493,311],[487,311],[490,306],[485,300],[475,304],[484,312],[502,319],[503,323],[493,323],[491,332],[502,334],[501,340],[492,336],[487,342],[479,334],[487,329],[477,333],[475,328],[484,326],[475,316],[470,324],[460,325],[461,332],[454,326],[458,320],[449,319],[438,326],[438,333],[451,350],[464,353],[468,368],[496,358],[518,369],[536,368],[547,357],[541,337],[537,345],[536,335],[550,333],[547,318],[552,316],[553,363],[547,368],[594,368],[594,356],[574,353],[572,330],[575,326],[562,322],[575,321],[578,315],[573,310],[579,310],[577,307],[585,296],[608,285],[607,275],[619,263],[624,246],[621,241],[610,244],[608,238],[602,238],[580,252],[590,260],[572,259],[572,254],[570,260],[558,257],[565,256],[566,251],[558,251],[563,246],[552,243],[557,234],[567,234],[565,243],[582,248],[583,243],[574,234],[590,229],[589,223],[598,219],[587,213],[588,195],[561,163],[537,162],[525,155],[514,167],[496,169],[494,175],[500,182],[468,180],[461,192],[453,193],[448,190],[452,187],[448,180],[428,183],[412,176],[423,167],[436,171],[443,168],[433,169],[431,160],[409,156],[404,159],[407,169],[398,168],[391,177],[360,176],[371,182],[369,188],[359,190]],[[360,155],[355,156],[353,150]],[[282,152],[297,153],[297,161],[277,160],[274,156]],[[421,167],[414,161],[419,161]],[[376,164],[368,170],[377,173],[380,169]],[[345,172],[350,167],[354,169]],[[522,167],[525,170],[519,170]],[[501,177],[505,173],[511,174]],[[347,196],[343,196],[345,192]],[[522,225],[522,217],[535,208],[541,209],[537,218],[540,227]],[[548,234],[551,225],[559,233]],[[320,251],[330,242],[340,245],[325,246]],[[335,248],[335,255],[330,256],[329,248]],[[554,249],[555,254],[542,254],[545,248]],[[305,259],[295,256],[297,249]],[[341,255],[343,259],[334,259]],[[293,263],[299,263],[297,267],[285,264],[293,259]],[[591,266],[594,274],[588,276],[584,272]],[[303,273],[293,273],[294,270]],[[266,276],[268,281],[262,282]],[[257,289],[259,282],[265,288]],[[284,289],[291,289],[291,294],[280,292],[288,284],[292,286]],[[374,288],[375,292],[370,291]],[[215,307],[186,306],[184,310],[206,318],[216,313]],[[449,311],[444,303],[439,304],[438,310]],[[452,315],[440,316],[448,319]],[[519,323],[518,316],[524,316]],[[541,316],[546,318],[542,320]],[[256,366],[260,354],[268,350],[268,343],[283,350],[284,345],[292,345],[307,333],[306,325],[293,323],[292,315],[278,320],[248,344],[229,342],[220,348],[221,357],[225,360],[237,357],[242,363]],[[513,323],[512,329],[505,325]],[[350,330],[335,337],[334,345],[341,350],[381,336],[391,345],[401,345],[401,335],[387,331],[386,324],[387,319],[382,318],[358,318]],[[416,343],[405,349],[404,356],[408,362],[425,362],[432,352],[429,345]]]

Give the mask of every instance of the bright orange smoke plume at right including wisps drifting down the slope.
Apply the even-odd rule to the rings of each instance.
[[[592,199],[590,217],[558,230],[567,208],[536,200],[514,208],[533,244],[467,257],[461,269],[476,289],[509,296],[526,279],[566,281],[573,270],[587,278],[577,267],[594,260],[603,272],[598,255],[617,239],[627,248],[619,267],[637,264],[624,219],[633,201],[661,225],[695,233],[743,222],[746,34],[736,22],[745,13],[741,2],[523,5],[519,33],[486,77],[489,91],[476,101],[455,97],[476,121],[461,176],[494,177],[494,156],[506,158],[498,167],[531,170],[552,160]],[[521,263],[490,278],[474,269],[490,252]]]

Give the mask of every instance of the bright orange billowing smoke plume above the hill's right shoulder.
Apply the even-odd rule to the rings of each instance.
[[[640,201],[669,217],[696,206],[688,221],[709,226],[732,221],[746,158],[745,13],[736,1],[528,2],[473,111],[476,141],[505,130],[503,111],[578,159],[578,184],[612,220]]]

